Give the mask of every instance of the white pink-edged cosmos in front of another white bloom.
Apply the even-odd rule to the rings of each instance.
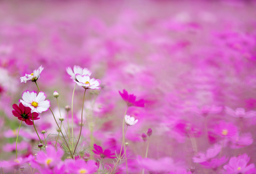
[[[81,74],[76,74],[76,80],[73,80],[78,84],[79,86],[83,87],[84,89],[100,89],[99,87],[101,81],[99,79],[91,78],[89,75],[81,75]]]

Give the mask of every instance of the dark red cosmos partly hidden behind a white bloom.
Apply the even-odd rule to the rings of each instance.
[[[30,107],[25,107],[22,103],[19,104],[12,104],[12,114],[16,117],[18,117],[19,120],[25,121],[27,125],[33,125],[32,120],[32,113]],[[33,113],[33,118],[34,120],[40,119],[38,118],[39,114],[34,112]]]

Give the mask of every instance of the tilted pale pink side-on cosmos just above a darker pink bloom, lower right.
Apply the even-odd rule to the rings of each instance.
[[[216,155],[221,151],[221,145],[215,144],[213,147],[207,149],[206,153],[199,152],[197,157],[193,157],[193,162],[201,163],[208,161],[216,157]]]

